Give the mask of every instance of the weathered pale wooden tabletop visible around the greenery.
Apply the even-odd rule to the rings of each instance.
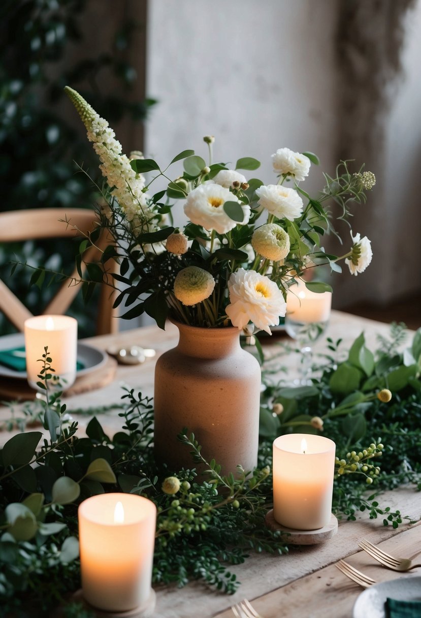
[[[365,332],[367,345],[375,349],[377,334],[386,335],[389,328],[387,324],[333,311],[327,336],[334,340],[342,337],[344,352],[349,350],[349,344],[361,331]],[[107,349],[114,344],[139,344],[154,347],[157,353],[162,353],[173,347],[177,339],[177,329],[169,324],[166,331],[150,326],[116,335],[93,337],[86,339],[86,342],[101,349]],[[325,337],[315,344],[315,352],[322,353],[324,346]],[[273,350],[272,342],[268,345],[268,350],[269,353]],[[294,355],[281,359],[283,365],[292,368],[291,375],[297,362]],[[122,384],[152,396],[153,376],[154,360],[147,360],[143,365],[119,366],[112,384],[98,391],[70,397],[66,399],[66,403],[70,410],[117,404]],[[8,414],[6,408],[0,408],[0,421]],[[72,415],[79,421],[83,431],[90,417]],[[116,413],[98,415],[98,420],[109,433],[120,429],[120,419]],[[0,444],[12,434],[0,433]],[[410,515],[412,519],[419,520],[421,517],[421,493],[415,492],[413,488],[388,492],[381,496],[379,502],[400,509],[402,514]],[[372,543],[381,543],[386,551],[398,556],[407,557],[417,550],[421,551],[421,526],[411,528],[402,525],[398,530],[393,530],[391,526],[383,527],[381,520],[369,520],[368,515],[362,513],[356,522],[340,522],[338,534],[323,545],[291,548],[286,556],[253,554],[244,564],[230,568],[242,583],[233,596],[209,590],[201,583],[191,583],[182,589],[158,588],[156,616],[232,618],[230,606],[246,597],[264,618],[348,618],[362,589],[341,574],[334,566],[335,562],[340,558],[347,558],[351,564],[378,581],[398,576],[359,551],[357,543],[362,538],[367,538]],[[399,576],[411,577],[411,574],[417,574],[417,570]]]

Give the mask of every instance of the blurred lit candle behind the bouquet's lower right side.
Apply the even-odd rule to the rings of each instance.
[[[317,294],[307,290],[304,281],[291,286],[286,295],[286,315],[294,322],[311,324],[327,322],[330,317],[331,292]]]

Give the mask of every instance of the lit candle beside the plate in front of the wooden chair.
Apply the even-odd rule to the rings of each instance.
[[[59,376],[65,388],[76,378],[77,321],[67,315],[38,315],[25,320],[25,356],[28,383],[35,388],[43,364],[38,362],[48,346],[54,375]],[[64,382],[65,381],[65,382]]]

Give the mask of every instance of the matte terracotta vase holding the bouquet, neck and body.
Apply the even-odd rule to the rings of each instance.
[[[157,460],[172,470],[200,468],[177,440],[193,431],[202,455],[236,473],[257,464],[261,370],[240,346],[237,328],[198,328],[176,323],[177,347],[162,354],[155,370]]]

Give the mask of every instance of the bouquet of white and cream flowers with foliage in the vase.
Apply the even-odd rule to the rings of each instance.
[[[351,232],[351,248],[340,257],[325,252],[321,239],[325,233],[336,234],[325,203],[335,202],[341,209],[337,218],[348,218],[351,203],[365,202],[365,192],[373,188],[372,172],[361,168],[351,174],[341,162],[334,177],[323,174],[325,188],[313,199],[301,188],[311,164],[319,163],[313,153],[278,149],[272,155],[277,184],[264,185],[238,171],[257,169],[260,163],[254,158],[239,159],[236,169],[212,163],[212,136],[204,137],[208,164],[185,150],[161,169],[139,152],[124,155],[107,121],[77,91],[65,90],[106,179],[99,218],[110,232],[110,246],[101,263],[111,257],[121,262],[120,274],[109,282],[126,286],[115,306],[134,305],[123,318],[146,312],[161,328],[169,314],[202,327],[232,324],[243,329],[251,322],[270,334],[270,327],[285,315],[286,292],[308,269],[328,265],[340,272],[338,261],[345,260],[356,275],[369,265],[367,237]],[[178,161],[183,161],[184,171],[172,179],[167,169]],[[143,176],[147,172],[153,174],[148,183]],[[152,182],[162,177],[167,188],[151,195]],[[172,224],[173,200],[184,200],[182,227]],[[95,242],[93,236],[89,240]],[[331,289],[314,282],[306,286],[315,292]]]

